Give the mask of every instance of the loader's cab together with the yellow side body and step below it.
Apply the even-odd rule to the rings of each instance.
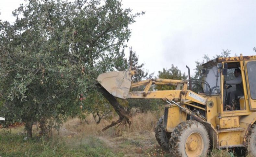
[[[219,57],[203,68],[206,120],[216,132],[212,139],[216,147],[249,148],[248,130],[256,123],[256,56]],[[234,99],[227,107],[231,94]]]

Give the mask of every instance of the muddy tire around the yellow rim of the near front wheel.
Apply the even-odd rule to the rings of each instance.
[[[169,140],[169,151],[171,156],[186,157],[188,156],[185,151],[185,145],[187,138],[192,133],[198,133],[201,135],[204,141],[203,151],[199,156],[207,156],[210,147],[209,134],[207,129],[198,121],[188,120],[181,122],[171,133]],[[190,157],[190,156],[189,156]]]

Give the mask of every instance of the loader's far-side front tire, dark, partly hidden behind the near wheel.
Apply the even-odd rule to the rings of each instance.
[[[157,126],[155,128],[155,136],[158,144],[161,147],[163,147],[164,149],[169,149],[169,138],[167,136],[166,131],[164,130],[163,123],[164,123],[164,116],[159,118],[157,122]]]

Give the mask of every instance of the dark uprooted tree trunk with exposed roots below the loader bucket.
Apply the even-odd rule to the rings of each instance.
[[[102,131],[105,131],[106,129],[109,129],[117,124],[119,124],[119,129],[118,129],[118,135],[121,135],[121,131],[124,125],[128,124],[129,126],[131,125],[132,121],[132,116],[130,115],[130,113],[128,111],[126,111],[124,109],[124,107],[122,107],[122,105],[120,105],[118,103],[118,101],[116,100],[116,98],[111,95],[105,88],[103,88],[100,84],[97,84],[97,86],[99,87],[99,92],[102,93],[102,95],[109,101],[109,103],[111,104],[112,107],[114,107],[116,113],[119,116],[119,119],[117,121],[113,121],[109,126],[106,126],[105,128],[102,129]]]

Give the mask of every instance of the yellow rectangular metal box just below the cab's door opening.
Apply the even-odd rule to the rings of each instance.
[[[220,129],[237,128],[239,127],[239,117],[216,117],[216,123]]]

